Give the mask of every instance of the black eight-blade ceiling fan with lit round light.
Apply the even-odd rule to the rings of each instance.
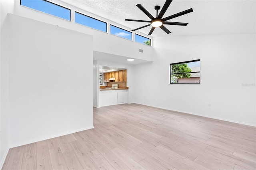
[[[154,18],[145,8],[143,8],[143,6],[141,4],[137,4],[136,6],[138,6],[138,8],[140,8],[140,10],[142,10],[142,12],[144,12],[144,14],[146,14],[151,21],[145,21],[145,20],[131,20],[131,19],[124,19],[125,21],[136,21],[136,22],[150,22],[150,24],[146,25],[146,26],[142,26],[140,28],[136,28],[132,31],[135,30],[139,30],[141,28],[145,28],[147,26],[152,26],[150,32],[148,33],[148,36],[150,36],[152,34],[152,32],[154,31],[154,29],[156,27],[160,27],[162,30],[164,30],[164,32],[166,32],[167,34],[170,34],[171,32],[165,27],[163,26],[163,24],[167,24],[167,25],[176,25],[176,26],[187,26],[188,23],[183,23],[183,22],[167,22],[167,20],[170,20],[172,18],[176,18],[178,16],[182,16],[184,14],[188,14],[190,12],[193,12],[193,9],[190,8],[188,10],[179,12],[177,14],[168,16],[166,18],[162,18],[164,16],[164,13],[166,12],[166,10],[168,9],[169,5],[171,4],[172,0],[166,0],[166,2],[164,3],[164,6],[162,8],[162,10],[160,11],[159,15],[158,15],[158,10],[160,10],[160,6],[155,6],[155,10],[156,10],[156,18]]]

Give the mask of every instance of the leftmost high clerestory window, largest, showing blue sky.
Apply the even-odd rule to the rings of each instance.
[[[70,9],[53,4],[46,0],[21,0],[20,4],[70,21]]]

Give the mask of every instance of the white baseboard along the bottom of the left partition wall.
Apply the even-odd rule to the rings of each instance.
[[[94,128],[94,126],[86,127],[86,128],[81,128],[81,129],[77,129],[77,130],[72,130],[72,131],[69,131],[69,132],[64,132],[64,133],[60,133],[60,134],[56,134],[56,135],[52,135],[52,136],[47,136],[47,137],[44,137],[44,138],[28,140],[26,142],[21,142],[21,143],[18,143],[18,144],[10,145],[9,147],[10,148],[14,148],[14,147],[17,147],[17,146],[22,146],[22,145],[25,145],[25,144],[30,144],[30,143],[39,142],[39,141],[42,141],[42,140],[56,138],[56,137],[59,137],[59,136],[64,136],[64,135],[67,135],[67,134],[71,134],[71,133],[75,133],[75,132],[80,132],[80,131],[83,131],[83,130],[89,130],[89,129],[92,129],[92,128]]]

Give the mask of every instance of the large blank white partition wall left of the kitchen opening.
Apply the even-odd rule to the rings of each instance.
[[[9,15],[9,146],[93,128],[92,36]]]

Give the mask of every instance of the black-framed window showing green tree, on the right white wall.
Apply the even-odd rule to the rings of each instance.
[[[170,84],[200,83],[200,59],[170,64]]]

